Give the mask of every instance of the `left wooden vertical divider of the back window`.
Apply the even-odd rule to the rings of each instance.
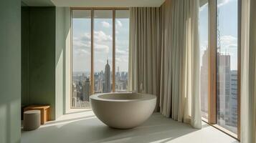
[[[91,94],[94,94],[94,51],[93,51],[93,49],[94,49],[94,44],[93,44],[93,38],[94,38],[94,10],[92,9],[91,11],[90,11],[90,16],[91,16],[91,22],[90,22],[90,24],[91,24],[91,31],[90,31],[90,44],[91,44],[91,50],[90,50],[90,54],[91,54],[91,60],[90,60],[90,79],[91,79]]]

